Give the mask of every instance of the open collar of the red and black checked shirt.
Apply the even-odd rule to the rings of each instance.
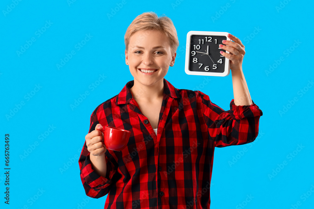
[[[120,91],[116,97],[116,105],[127,104],[133,98],[130,88],[134,85],[134,80],[127,82],[127,84]],[[171,98],[179,98],[180,94],[177,89],[171,85],[169,81],[164,78],[164,94]]]

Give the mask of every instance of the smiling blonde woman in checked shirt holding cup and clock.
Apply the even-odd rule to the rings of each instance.
[[[234,91],[224,111],[203,92],[165,80],[179,45],[172,21],[152,12],[133,20],[125,60],[134,80],[91,114],[79,158],[87,196],[108,194],[105,208],[209,208],[214,148],[254,141],[263,115],[243,76],[244,46],[230,39],[220,46],[230,52],[222,55],[230,59]],[[125,149],[106,149],[105,126],[131,132]]]

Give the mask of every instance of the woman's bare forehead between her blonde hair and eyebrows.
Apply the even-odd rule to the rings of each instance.
[[[158,30],[140,30],[135,32],[130,38],[131,48],[134,46],[170,46],[168,37]]]

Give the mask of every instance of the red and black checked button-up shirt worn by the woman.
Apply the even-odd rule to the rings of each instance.
[[[107,149],[106,178],[91,167],[84,143],[80,176],[87,196],[108,194],[105,208],[209,208],[215,147],[246,144],[258,134],[263,112],[252,105],[224,111],[201,91],[176,89],[164,79],[164,96],[157,136],[142,114],[127,82],[122,91],[103,102],[90,117],[96,124],[131,132],[122,151]]]

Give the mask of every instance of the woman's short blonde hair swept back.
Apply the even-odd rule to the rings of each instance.
[[[128,50],[130,38],[134,33],[140,30],[150,29],[156,29],[164,33],[170,41],[171,54],[176,53],[179,40],[172,20],[166,16],[158,17],[154,12],[145,12],[138,15],[129,27],[127,27],[127,31],[124,35],[125,50]]]

